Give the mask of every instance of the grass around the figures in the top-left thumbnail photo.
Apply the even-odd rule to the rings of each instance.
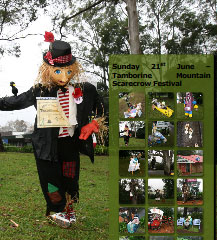
[[[129,102],[132,104],[142,103],[142,115],[141,118],[145,116],[145,94],[143,92],[132,92],[129,93]],[[123,98],[119,99],[119,117],[124,118],[124,112],[127,112],[128,106],[126,100]]]

